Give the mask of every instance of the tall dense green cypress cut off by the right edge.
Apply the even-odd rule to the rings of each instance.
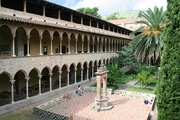
[[[180,118],[180,1],[168,0],[164,50],[157,87],[158,120]]]

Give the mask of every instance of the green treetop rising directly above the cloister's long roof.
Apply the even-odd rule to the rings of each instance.
[[[98,11],[99,11],[98,7],[93,7],[93,8],[82,7],[82,8],[78,8],[77,11],[88,14],[88,15],[92,15],[92,16],[97,17],[97,18],[101,18],[101,16],[98,13]]]

